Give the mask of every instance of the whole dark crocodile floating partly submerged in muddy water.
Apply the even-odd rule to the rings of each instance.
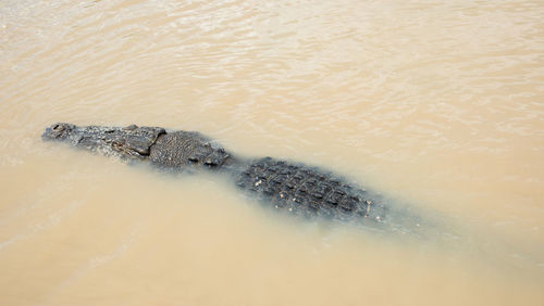
[[[372,225],[387,220],[388,207],[382,197],[345,179],[299,163],[237,157],[195,131],[166,131],[135,125],[121,128],[53,124],[45,130],[42,139],[104,155],[148,161],[174,171],[221,173],[237,188],[289,214]]]

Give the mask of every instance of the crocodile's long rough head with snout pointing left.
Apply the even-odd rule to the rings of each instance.
[[[46,141],[61,141],[71,145],[128,158],[147,158],[151,145],[160,135],[165,133],[159,127],[78,127],[58,123],[46,128],[41,138]]]

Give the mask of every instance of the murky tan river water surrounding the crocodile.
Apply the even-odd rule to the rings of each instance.
[[[542,1],[0,1],[1,305],[544,305]],[[380,235],[44,143],[198,130],[441,220]],[[433,230],[434,231],[434,230]]]

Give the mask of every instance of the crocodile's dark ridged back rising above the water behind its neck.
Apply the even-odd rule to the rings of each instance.
[[[385,207],[364,190],[302,164],[271,157],[255,160],[236,175],[236,184],[276,209],[305,217],[378,222],[385,218]]]

